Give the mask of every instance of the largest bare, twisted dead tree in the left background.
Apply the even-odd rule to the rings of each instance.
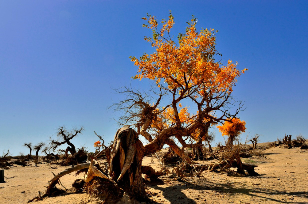
[[[76,147],[73,143],[71,143],[71,139],[73,139],[75,136],[77,136],[79,133],[82,134],[83,131],[83,127],[80,127],[79,129],[74,128],[71,131],[68,131],[66,129],[66,127],[62,126],[58,128],[58,132],[57,132],[57,139],[54,140],[52,138],[50,138],[50,149],[52,149],[53,151],[55,151],[59,146],[63,145],[63,144],[67,144],[67,148],[64,150],[65,151],[65,155],[68,156],[68,152],[71,153],[71,155],[76,153]]]

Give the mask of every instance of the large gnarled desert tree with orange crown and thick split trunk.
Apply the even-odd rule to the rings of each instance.
[[[119,91],[130,97],[124,96],[126,99],[115,103],[113,107],[123,113],[120,124],[129,124],[132,128],[126,125],[116,132],[109,162],[110,178],[97,171],[96,156],[92,157],[91,163],[70,170],[88,168],[85,182],[91,181],[95,175],[104,178],[103,181],[99,179],[95,182],[108,186],[107,191],[111,192],[113,186],[114,191],[118,192],[115,196],[123,195],[120,191],[124,190],[129,196],[139,200],[146,199],[142,180],[144,156],[156,153],[167,144],[178,151],[177,154],[183,158],[183,165],[188,165],[189,157],[174,139],[183,147],[193,147],[188,141],[191,141],[192,134],[197,129],[208,130],[207,122],[233,123],[232,120],[236,118],[242,105],[233,100],[231,94],[237,78],[245,71],[239,71],[236,68],[237,63],[234,64],[231,60],[225,65],[215,60],[215,56],[220,55],[215,48],[217,31],[202,29],[197,32],[196,18],[188,21],[186,31],[179,34],[177,43],[170,37],[174,24],[172,14],[167,20],[161,21],[161,29],[158,29],[159,22],[155,16],[148,15],[143,19],[147,21],[143,26],[152,29],[153,33],[152,37],[144,39],[155,51],[152,54],[145,53],[139,59],[130,57],[139,73],[133,78],[147,78],[155,86],[145,95],[127,87],[123,88],[124,91]],[[151,95],[151,92],[155,94]],[[193,101],[197,112],[191,113],[188,110],[188,100]],[[238,105],[234,112],[230,108],[232,105]],[[139,135],[148,140],[148,143],[143,145]],[[180,171],[178,172],[180,177]],[[62,175],[64,173],[55,176],[51,183],[57,182]],[[91,189],[91,185],[89,188]]]

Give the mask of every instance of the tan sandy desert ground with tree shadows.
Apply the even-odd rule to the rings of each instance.
[[[273,147],[264,151],[266,158],[249,158],[256,162],[259,176],[248,177],[227,173],[204,173],[200,178],[178,182],[162,179],[145,182],[159,203],[308,203],[308,151],[299,148]],[[144,158],[143,165],[156,170],[160,164],[156,158]],[[213,162],[213,161],[211,161]],[[57,169],[51,169],[58,167]],[[45,192],[48,180],[67,167],[40,164],[39,167],[13,167],[5,170],[6,179],[0,183],[0,203],[26,203]],[[66,188],[75,180],[74,173],[61,178]],[[278,179],[279,178],[279,179]],[[36,203],[100,203],[86,193],[71,193],[46,198]]]

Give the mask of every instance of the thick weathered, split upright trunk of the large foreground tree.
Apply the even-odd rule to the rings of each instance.
[[[141,171],[143,157],[144,146],[137,132],[127,125],[119,129],[112,148],[109,175],[129,196],[138,200],[147,198]]]

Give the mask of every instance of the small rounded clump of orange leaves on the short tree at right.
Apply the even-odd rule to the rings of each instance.
[[[224,135],[239,135],[242,132],[245,132],[246,122],[244,120],[241,121],[239,118],[233,118],[231,121],[233,123],[226,121],[223,125],[216,126],[223,136]]]

